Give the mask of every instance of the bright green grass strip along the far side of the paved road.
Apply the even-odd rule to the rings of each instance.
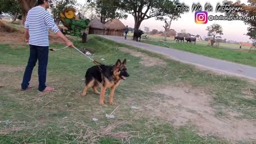
[[[230,49],[223,49],[219,47],[210,47],[203,45],[194,45],[189,43],[166,43],[155,42],[155,41],[147,41],[142,40],[141,42],[164,46],[164,47],[172,47],[173,49],[188,51],[196,54],[205,55],[206,57],[222,59],[230,62],[241,63],[248,66],[256,67],[256,54],[255,52],[248,51],[234,51]],[[168,46],[166,46],[168,45]]]

